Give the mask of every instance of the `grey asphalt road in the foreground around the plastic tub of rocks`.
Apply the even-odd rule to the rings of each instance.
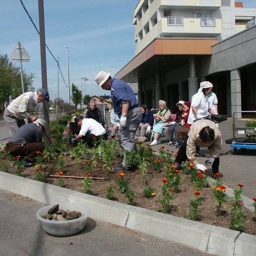
[[[44,232],[36,218],[37,210],[44,206],[38,201],[0,189],[0,255],[210,255],[188,246],[91,218],[87,218],[84,230],[76,235],[50,236]]]

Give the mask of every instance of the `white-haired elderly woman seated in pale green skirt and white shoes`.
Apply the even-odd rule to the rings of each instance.
[[[164,100],[160,100],[158,102],[158,105],[159,111],[157,112],[157,114],[153,115],[155,125],[153,128],[154,140],[150,144],[151,146],[161,143],[160,137],[163,132],[163,129],[165,129],[169,125],[169,122],[172,120],[172,113],[169,110],[169,108],[166,107],[166,102]]]

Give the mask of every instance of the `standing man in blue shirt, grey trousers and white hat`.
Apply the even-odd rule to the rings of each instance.
[[[114,112],[120,118],[121,145],[124,148],[124,159],[121,166],[114,169],[123,171],[125,169],[134,171],[136,166],[133,163],[125,163],[126,151],[136,151],[135,133],[140,126],[142,112],[131,87],[120,79],[111,77],[110,73],[101,71],[95,78],[98,88],[111,90],[111,99],[113,102]],[[125,165],[126,164],[126,165]],[[125,168],[128,167],[128,168]]]

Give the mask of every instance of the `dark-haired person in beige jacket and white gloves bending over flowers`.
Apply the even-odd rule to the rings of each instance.
[[[205,161],[205,165],[212,166],[213,175],[218,173],[222,141],[221,132],[214,122],[207,119],[200,119],[191,125],[189,133],[177,153],[174,165],[177,169],[179,168],[179,165],[187,159],[194,163],[198,170],[204,172],[204,170],[207,169],[207,167],[198,163],[196,160],[195,145],[209,148],[210,157]]]

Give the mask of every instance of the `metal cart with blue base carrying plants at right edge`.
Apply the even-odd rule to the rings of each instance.
[[[245,135],[256,134],[256,127],[236,127],[235,120],[238,113],[255,113],[256,111],[235,111],[233,113],[233,138],[226,140],[226,144],[231,144],[234,148],[234,154],[237,154],[238,148],[245,150],[246,148],[256,149],[256,140],[248,140]],[[243,136],[243,137],[242,137]]]

